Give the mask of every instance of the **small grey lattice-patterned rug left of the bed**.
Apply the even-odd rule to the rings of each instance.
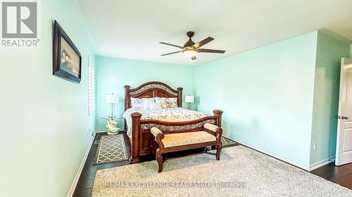
[[[94,165],[127,160],[127,153],[123,135],[101,136],[99,147],[96,150]]]

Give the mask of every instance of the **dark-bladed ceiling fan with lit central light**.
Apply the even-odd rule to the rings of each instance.
[[[165,43],[165,42],[159,42],[168,46],[175,46],[177,48],[181,48],[182,50],[175,51],[172,53],[166,53],[164,55],[171,55],[174,53],[183,53],[187,57],[191,57],[192,60],[196,60],[196,54],[197,53],[225,53],[225,50],[213,50],[213,49],[206,49],[206,48],[201,48],[201,46],[205,45],[206,43],[209,43],[210,41],[213,41],[214,39],[212,37],[208,37],[206,39],[203,39],[202,41],[199,41],[198,43],[194,43],[192,41],[191,37],[194,36],[194,32],[187,32],[187,36],[189,37],[189,40],[184,43],[184,46],[177,46],[172,43]]]

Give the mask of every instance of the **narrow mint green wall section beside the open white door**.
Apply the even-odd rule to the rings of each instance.
[[[341,57],[348,57],[350,44],[318,32],[315,64],[310,164],[335,156]],[[314,150],[314,144],[316,147]]]

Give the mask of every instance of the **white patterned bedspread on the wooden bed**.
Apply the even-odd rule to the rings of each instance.
[[[209,116],[199,111],[193,111],[184,109],[182,107],[165,108],[165,109],[142,109],[142,108],[130,108],[125,111],[123,117],[127,122],[127,135],[132,135],[132,117],[134,112],[142,114],[141,120],[153,119],[158,121],[168,122],[183,122],[183,121],[194,121],[200,118]]]

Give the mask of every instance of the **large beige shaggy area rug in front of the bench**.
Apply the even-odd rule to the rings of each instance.
[[[96,172],[92,196],[352,196],[352,191],[252,149],[167,159]]]

